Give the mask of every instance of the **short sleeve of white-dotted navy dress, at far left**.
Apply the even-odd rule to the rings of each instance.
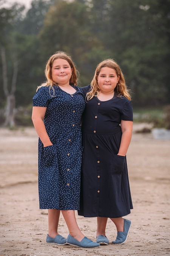
[[[32,98],[33,106],[47,107],[51,97],[52,96],[49,94],[49,86],[42,86]]]

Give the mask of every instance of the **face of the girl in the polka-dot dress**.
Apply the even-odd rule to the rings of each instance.
[[[70,67],[68,61],[56,59],[51,69],[52,79],[58,85],[69,85],[72,71],[73,68]]]

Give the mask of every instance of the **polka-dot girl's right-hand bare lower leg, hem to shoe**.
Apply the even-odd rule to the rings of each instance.
[[[65,219],[70,236],[74,237],[79,242],[85,237],[77,225],[74,210],[62,210],[62,215]]]

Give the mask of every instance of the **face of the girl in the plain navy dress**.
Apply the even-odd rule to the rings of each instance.
[[[116,71],[112,68],[101,68],[97,76],[98,85],[101,92],[112,93],[119,81],[120,76],[117,77]]]

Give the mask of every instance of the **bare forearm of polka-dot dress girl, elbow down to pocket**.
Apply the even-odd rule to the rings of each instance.
[[[43,120],[40,118],[36,118],[36,119],[32,119],[32,122],[34,124],[34,127],[36,129],[36,132],[37,132],[40,140],[43,143],[43,146],[46,147],[46,146],[53,145],[53,143],[51,143],[49,136],[46,132],[46,128],[43,123]]]

